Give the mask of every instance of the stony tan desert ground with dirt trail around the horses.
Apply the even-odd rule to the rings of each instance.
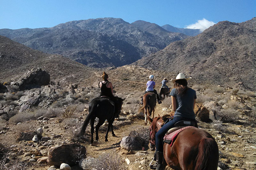
[[[150,169],[148,164],[151,161],[154,152],[150,151],[145,145],[139,145],[139,149],[137,150],[128,151],[122,148],[120,143],[122,138],[131,134],[132,131],[137,131],[138,134],[140,134],[141,129],[145,128],[143,130],[145,130],[147,133],[147,128],[149,125],[144,125],[143,116],[141,113],[138,113],[138,108],[140,107],[139,100],[144,90],[144,84],[147,81],[147,74],[154,74],[156,76],[155,81],[157,88],[159,88],[163,77],[171,79],[175,77],[175,73],[170,73],[168,76],[166,76],[166,73],[161,71],[154,72],[152,70],[146,70],[135,66],[124,66],[110,69],[108,70],[108,73],[110,76],[110,81],[112,81],[115,86],[114,90],[117,91],[116,94],[119,97],[126,99],[124,101],[120,118],[116,119],[114,122],[114,131],[116,137],[112,137],[111,133],[109,133],[108,142],[104,141],[107,128],[106,124],[104,124],[100,128],[100,139],[97,146],[90,145],[90,125],[88,125],[86,129],[85,140],[77,140],[76,135],[78,134],[79,128],[81,128],[82,123],[88,114],[88,101],[94,95],[98,94],[98,89],[95,88],[97,83],[94,82],[98,82],[101,72],[98,72],[97,74],[95,73],[98,75],[98,77],[93,77],[87,80],[90,82],[90,84],[87,84],[88,88],[85,88],[84,90],[81,90],[81,87],[86,86],[86,84],[78,85],[78,88],[75,87],[76,85],[73,85],[73,87],[72,85],[68,86],[66,87],[67,92],[62,91],[65,89],[64,87],[58,86],[57,88],[54,87],[55,85],[49,85],[47,88],[55,89],[56,91],[56,94],[49,93],[49,96],[50,94],[53,95],[51,98],[51,106],[57,106],[58,104],[65,105],[66,107],[56,107],[53,109],[51,106],[46,107],[45,105],[40,105],[41,107],[39,107],[30,104],[31,108],[28,108],[28,110],[21,113],[23,113],[23,115],[27,115],[28,113],[32,114],[33,111],[34,115],[40,115],[31,120],[27,120],[25,118],[18,119],[17,115],[21,114],[18,113],[15,115],[16,117],[13,116],[16,118],[16,120],[18,120],[18,122],[16,122],[14,121],[14,118],[10,116],[11,114],[6,114],[6,111],[10,112],[16,110],[17,106],[14,107],[12,105],[8,105],[8,107],[12,108],[13,110],[4,109],[6,108],[6,105],[4,105],[4,101],[6,100],[4,99],[7,96],[7,93],[3,93],[4,95],[1,99],[2,107],[4,107],[3,113],[11,118],[7,119],[5,117],[8,120],[5,121],[1,115],[0,143],[4,147],[1,147],[2,149],[0,150],[0,156],[2,156],[2,153],[4,152],[8,153],[6,162],[3,162],[2,160],[0,167],[3,169],[8,169],[5,167],[9,167],[9,169],[31,170],[57,169],[60,167],[50,167],[50,165],[46,163],[46,158],[48,158],[48,151],[50,148],[57,145],[63,146],[76,143],[86,148],[87,159],[84,160],[82,164],[83,166],[81,165],[84,167],[84,169],[86,169],[86,163],[90,162],[90,159],[93,160],[93,158],[98,161],[97,166],[105,165],[104,163],[109,161],[111,164],[119,162],[118,165],[123,166],[120,169]],[[169,83],[169,86],[170,85],[171,84]],[[197,114],[208,114],[209,118],[213,121],[212,122],[208,119],[209,122],[203,122],[201,121],[201,117],[197,117],[199,128],[209,132],[218,143],[220,151],[220,162],[218,168],[237,170],[255,169],[255,93],[242,89],[239,90],[232,89],[231,87],[222,87],[221,85],[199,85],[193,80],[189,82],[189,85],[193,86],[192,88],[197,90]],[[41,87],[41,90],[34,89],[33,91],[39,91],[39,94],[42,94],[44,92],[44,88],[46,87]],[[26,92],[25,96],[31,95],[30,92],[31,90]],[[77,96],[77,98],[71,98],[72,92],[74,92],[73,95]],[[59,95],[60,93],[62,95]],[[63,93],[65,93],[65,95]],[[83,93],[83,95],[79,96],[81,93]],[[70,100],[70,98],[73,100]],[[84,100],[80,100],[79,98],[84,98]],[[46,97],[45,95],[40,95],[39,99],[46,99]],[[17,103],[19,103],[19,100],[17,100]],[[65,118],[65,116],[62,114],[63,111],[67,109],[67,103],[65,103],[64,100],[70,100],[72,104],[76,104],[76,111],[74,111],[70,118]],[[40,101],[43,102],[44,100]],[[170,98],[163,100],[161,105],[156,106],[155,116],[157,114],[170,114],[172,112],[170,104]],[[20,107],[18,108],[20,109]],[[75,105],[71,105],[69,111],[74,108]],[[35,132],[32,133],[32,131]],[[35,134],[37,135],[38,139],[34,137]],[[67,150],[66,152],[69,153],[70,151]],[[59,159],[64,157],[64,155],[58,156]],[[102,158],[105,158],[104,161],[102,161]],[[109,160],[107,158],[109,158]],[[96,162],[95,159],[94,163]],[[82,162],[80,162],[80,164],[81,163]],[[89,167],[89,165],[87,167]],[[76,166],[71,166],[71,168],[72,170],[82,169],[78,164]],[[166,167],[166,169],[171,168]]]

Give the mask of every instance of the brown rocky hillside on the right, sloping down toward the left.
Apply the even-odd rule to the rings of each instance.
[[[222,21],[195,37],[175,41],[134,64],[184,72],[199,82],[239,84],[256,90],[255,42],[256,18],[242,23]]]

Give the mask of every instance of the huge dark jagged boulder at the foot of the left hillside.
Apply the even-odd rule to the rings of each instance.
[[[50,75],[41,68],[34,67],[24,74],[18,82],[20,90],[40,88],[42,85],[49,85]]]

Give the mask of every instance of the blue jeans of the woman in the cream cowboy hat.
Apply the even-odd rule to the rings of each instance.
[[[182,121],[182,120],[195,120],[195,119],[189,119],[186,117],[174,117],[171,121],[166,123],[161,129],[158,130],[156,133],[156,151],[163,152],[163,137],[166,134],[166,132],[174,127],[174,124]]]

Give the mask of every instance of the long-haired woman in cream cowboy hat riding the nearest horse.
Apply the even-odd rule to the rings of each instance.
[[[156,133],[156,163],[150,166],[151,169],[161,169],[163,162],[163,137],[165,133],[174,127],[176,122],[182,120],[194,120],[194,107],[196,103],[196,91],[188,88],[187,80],[183,73],[179,73],[176,79],[172,79],[173,89],[170,93],[172,96],[172,109],[175,112],[174,118],[164,124],[164,126]],[[197,126],[197,125],[196,125]]]

